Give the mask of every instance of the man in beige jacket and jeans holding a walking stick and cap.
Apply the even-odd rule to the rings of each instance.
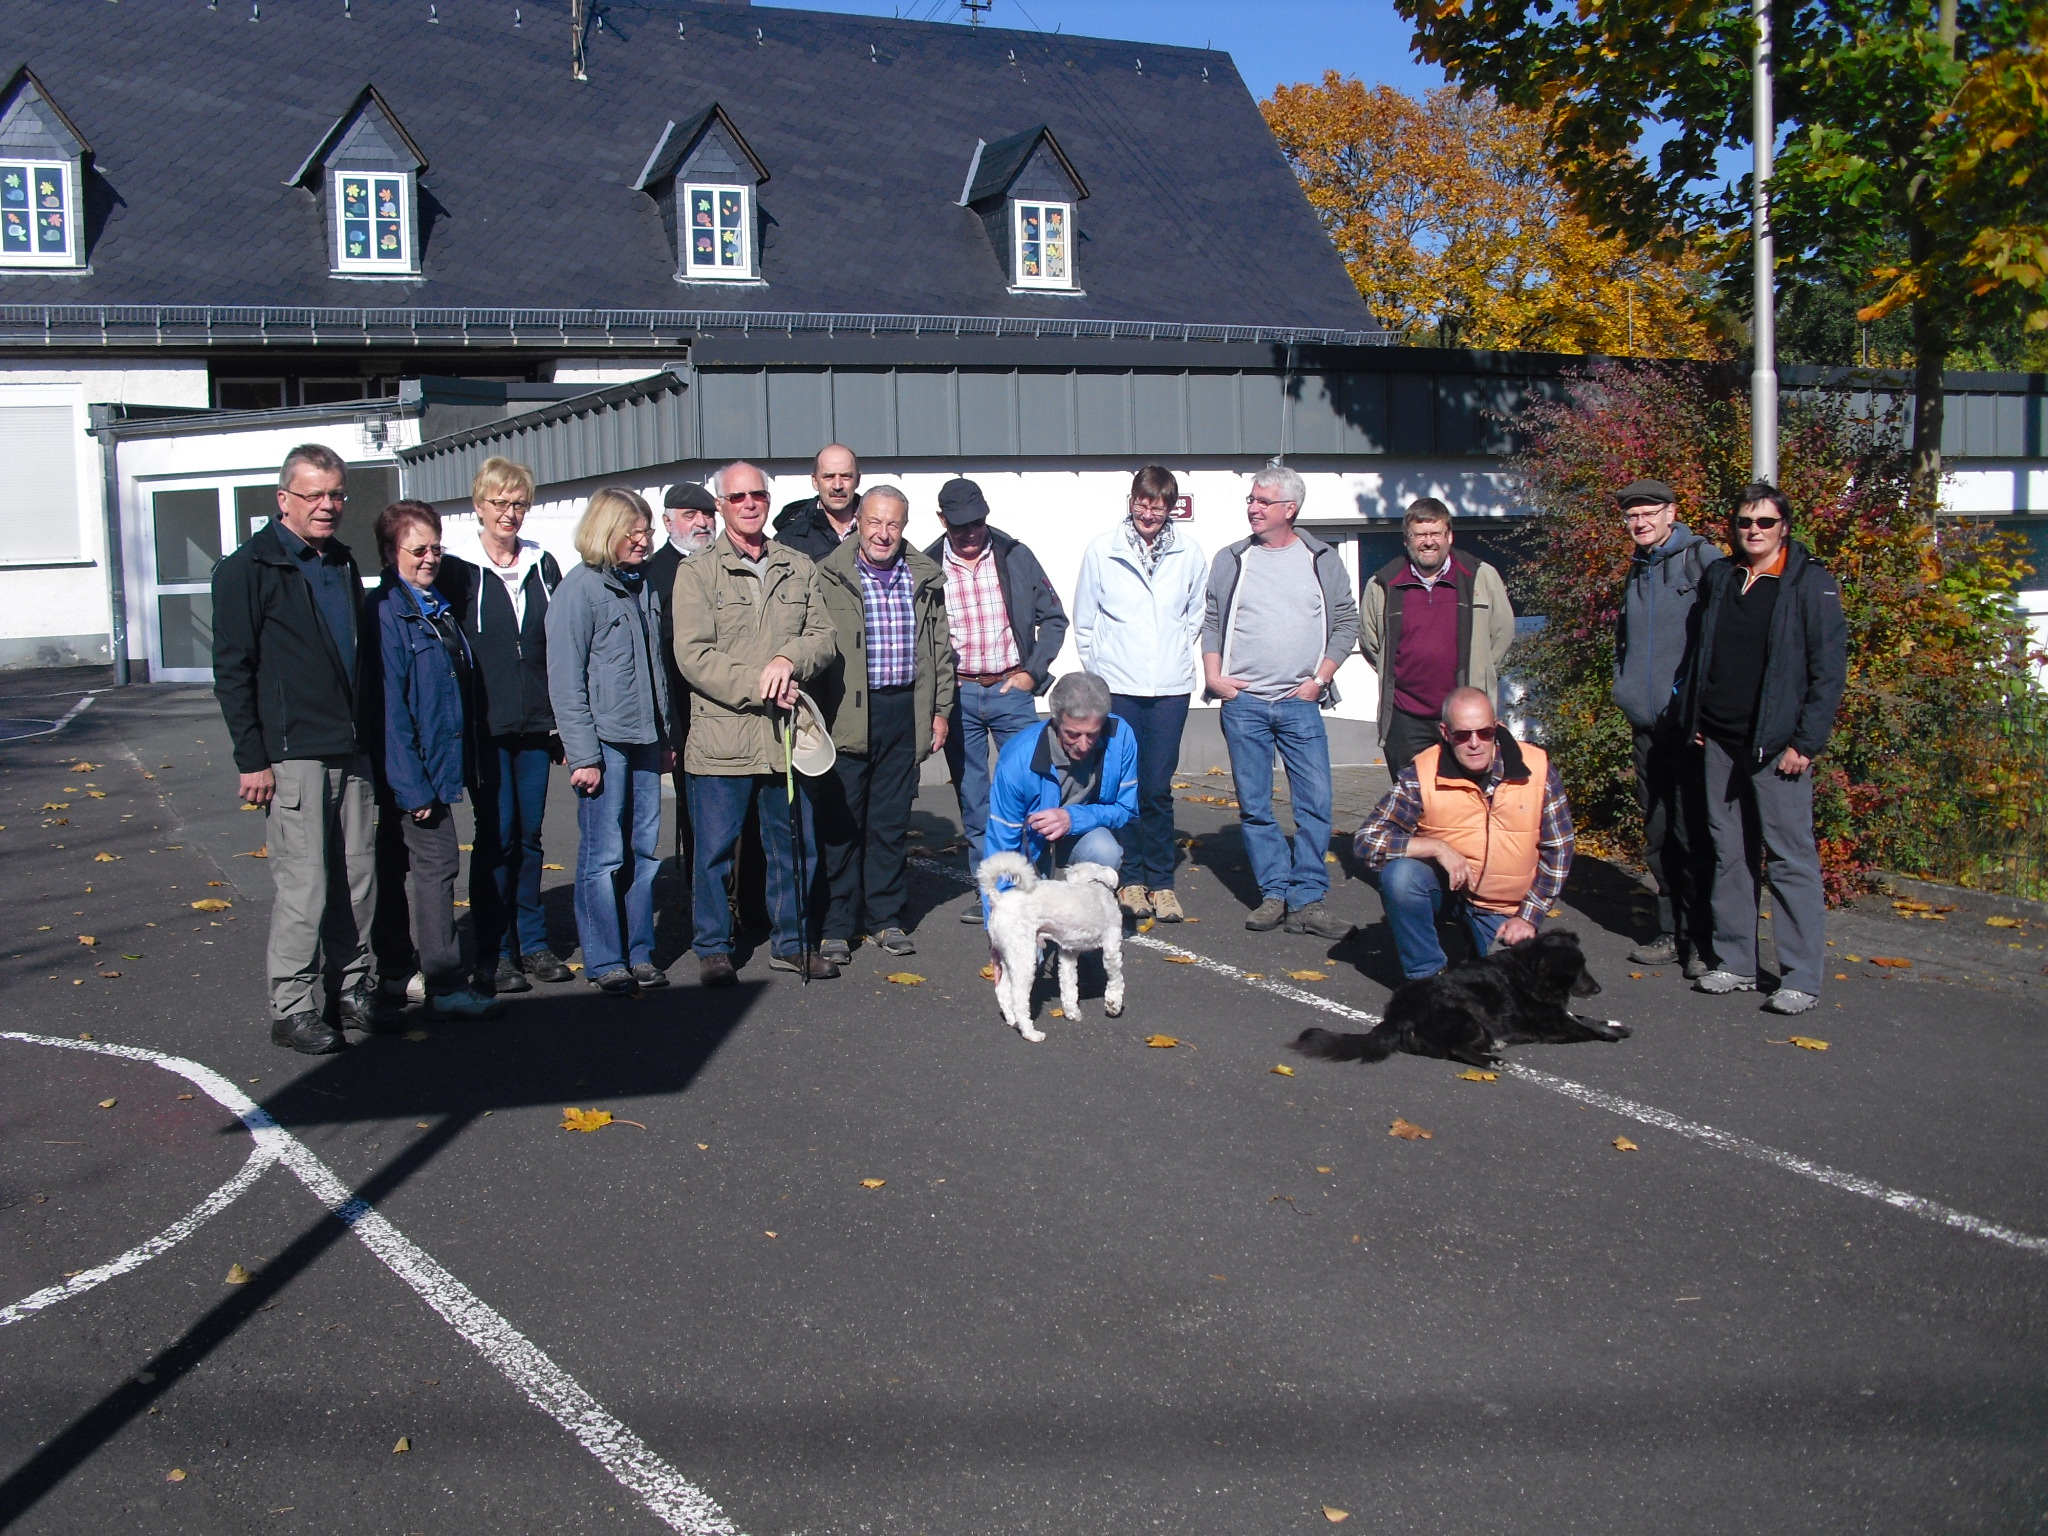
[[[692,948],[707,987],[731,987],[739,979],[725,881],[748,809],[758,807],[768,860],[768,965],[829,979],[840,967],[819,958],[799,918],[817,868],[815,838],[807,797],[799,788],[793,807],[784,791],[776,719],[795,707],[797,688],[834,664],[838,637],[817,567],[768,539],[762,471],[748,463],[727,465],[713,477],[713,492],[723,532],[711,549],[682,563],[672,598],[676,666],[690,684],[690,739],[682,766],[696,834]]]

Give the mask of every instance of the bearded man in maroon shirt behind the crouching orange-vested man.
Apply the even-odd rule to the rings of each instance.
[[[1501,664],[1516,643],[1516,610],[1501,573],[1450,549],[1450,508],[1434,496],[1401,518],[1407,551],[1366,580],[1358,649],[1380,674],[1380,745],[1401,776],[1438,743],[1452,688],[1479,688],[1499,707]]]

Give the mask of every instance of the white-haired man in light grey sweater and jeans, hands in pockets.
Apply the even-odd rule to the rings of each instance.
[[[1331,678],[1358,645],[1358,600],[1337,551],[1294,530],[1300,475],[1268,465],[1251,477],[1251,537],[1217,555],[1208,571],[1202,672],[1223,700],[1237,815],[1260,883],[1245,918],[1255,934],[1343,938],[1352,926],[1323,905],[1329,893],[1329,737],[1323,711]],[[1274,817],[1274,752],[1286,768],[1294,838]]]

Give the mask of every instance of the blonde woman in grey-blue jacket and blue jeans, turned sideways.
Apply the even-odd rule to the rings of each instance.
[[[666,987],[653,963],[653,877],[662,860],[662,774],[670,752],[664,594],[647,582],[653,510],[606,485],[575,524],[584,563],[547,608],[547,690],[575,786],[575,934],[584,979],[625,997]],[[627,870],[621,889],[618,872]]]

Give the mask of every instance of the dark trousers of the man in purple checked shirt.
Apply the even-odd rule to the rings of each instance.
[[[825,938],[901,928],[905,834],[918,799],[915,692],[868,688],[868,756],[842,752],[811,788],[829,891]]]

